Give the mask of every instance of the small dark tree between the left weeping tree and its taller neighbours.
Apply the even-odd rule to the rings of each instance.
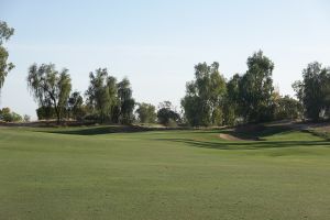
[[[82,119],[85,116],[85,110],[84,110],[84,99],[80,95],[80,92],[75,91],[70,95],[68,98],[68,113],[72,118],[76,120]]]

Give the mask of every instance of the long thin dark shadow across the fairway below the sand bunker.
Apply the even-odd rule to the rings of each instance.
[[[282,148],[295,146],[330,146],[329,141],[240,141],[240,142],[209,142],[191,139],[157,139],[157,141],[169,141],[185,143],[195,147],[217,150],[261,150]]]

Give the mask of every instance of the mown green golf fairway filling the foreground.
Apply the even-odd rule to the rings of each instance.
[[[330,219],[330,142],[300,131],[0,128],[0,219]]]

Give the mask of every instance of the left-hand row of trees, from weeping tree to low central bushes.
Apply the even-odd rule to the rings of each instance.
[[[89,86],[81,95],[72,92],[68,69],[57,70],[54,64],[33,64],[29,68],[28,87],[38,103],[38,120],[56,119],[61,123],[74,119],[120,124],[139,121],[173,125],[180,119],[169,101],[161,103],[157,112],[153,105],[136,103],[130,80],[123,78],[118,81],[107,68],[98,68],[89,74]]]

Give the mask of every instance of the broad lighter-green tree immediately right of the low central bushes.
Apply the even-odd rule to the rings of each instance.
[[[221,125],[226,92],[226,79],[219,73],[218,63],[196,65],[195,80],[187,82],[186,96],[182,99],[188,123]]]

